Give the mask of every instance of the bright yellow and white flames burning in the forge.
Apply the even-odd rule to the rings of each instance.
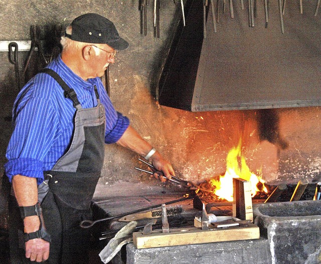
[[[227,155],[226,172],[224,176],[220,176],[219,180],[211,179],[209,181],[209,184],[214,189],[214,194],[219,198],[233,201],[233,178],[241,178],[249,181],[252,186],[252,197],[259,191],[267,193],[262,177],[253,174],[246,165],[245,157],[241,156],[241,140],[238,146],[231,149]],[[259,182],[263,186],[262,190],[257,188]]]

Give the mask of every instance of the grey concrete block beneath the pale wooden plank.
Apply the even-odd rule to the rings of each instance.
[[[127,264],[271,263],[268,242],[262,238],[145,249],[128,244],[126,252]]]

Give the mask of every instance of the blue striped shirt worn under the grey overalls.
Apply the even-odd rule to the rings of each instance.
[[[100,78],[84,81],[69,69],[59,56],[48,65],[67,85],[73,88],[83,108],[97,105],[94,85],[106,110],[105,143],[117,142],[129,125],[127,117],[117,112]],[[9,180],[15,175],[44,180],[43,172],[51,170],[72,140],[76,109],[64,97],[62,87],[48,74],[40,73],[20,91],[13,109],[15,129],[6,157]]]

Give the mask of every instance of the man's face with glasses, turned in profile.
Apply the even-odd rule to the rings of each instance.
[[[115,62],[116,51],[107,44],[91,45],[94,50],[94,58],[90,61],[89,70],[92,78],[104,75],[110,63]]]

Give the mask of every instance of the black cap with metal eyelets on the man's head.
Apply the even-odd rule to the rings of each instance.
[[[129,44],[120,38],[115,25],[98,14],[85,14],[75,18],[71,23],[72,34],[65,33],[69,39],[95,43],[108,44],[115,50],[127,49]]]

